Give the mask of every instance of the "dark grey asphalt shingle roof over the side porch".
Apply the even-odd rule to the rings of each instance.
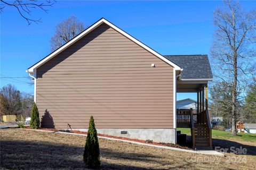
[[[207,55],[164,55],[164,57],[183,69],[181,79],[213,78]]]

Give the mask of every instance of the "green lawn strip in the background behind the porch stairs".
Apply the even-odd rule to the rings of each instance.
[[[190,128],[177,128],[177,130],[181,131],[181,133],[191,135]],[[212,130],[212,138],[232,141],[256,142],[256,134],[252,133],[237,133],[237,136],[233,136],[231,135],[231,132]]]

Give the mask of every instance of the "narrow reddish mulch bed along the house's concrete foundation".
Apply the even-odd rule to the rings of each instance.
[[[30,127],[26,127],[25,129],[32,129]],[[54,131],[54,132],[65,132],[63,130],[58,130],[58,129],[49,129],[49,128],[39,128],[38,130],[44,130],[44,131]],[[68,131],[66,131],[68,132]],[[78,134],[87,134],[87,132],[82,132],[82,131],[70,131],[70,133],[78,133]],[[180,145],[175,145],[173,143],[163,143],[163,142],[154,142],[154,141],[146,141],[146,140],[139,140],[139,139],[132,139],[132,138],[125,138],[125,137],[116,137],[112,135],[107,135],[107,134],[100,134],[98,133],[99,137],[107,137],[107,138],[114,138],[114,139],[123,139],[123,140],[129,140],[129,141],[134,141],[134,142],[141,142],[141,143],[147,143],[150,145],[157,145],[157,146],[166,146],[166,147],[173,147],[173,148],[180,148],[180,149],[189,149],[192,150],[191,147],[189,146],[180,146]]]

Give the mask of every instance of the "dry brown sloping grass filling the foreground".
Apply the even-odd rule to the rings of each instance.
[[[0,133],[1,169],[85,169],[82,158],[86,137],[18,129]],[[256,156],[252,155],[215,157],[103,139],[99,143],[101,169],[256,168]],[[238,159],[244,163],[235,161]]]

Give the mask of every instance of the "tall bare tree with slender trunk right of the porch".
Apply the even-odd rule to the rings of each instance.
[[[215,77],[231,88],[231,129],[236,135],[238,97],[254,72],[256,12],[244,12],[237,1],[224,1],[214,11],[213,22],[217,28],[211,48],[218,68]]]

